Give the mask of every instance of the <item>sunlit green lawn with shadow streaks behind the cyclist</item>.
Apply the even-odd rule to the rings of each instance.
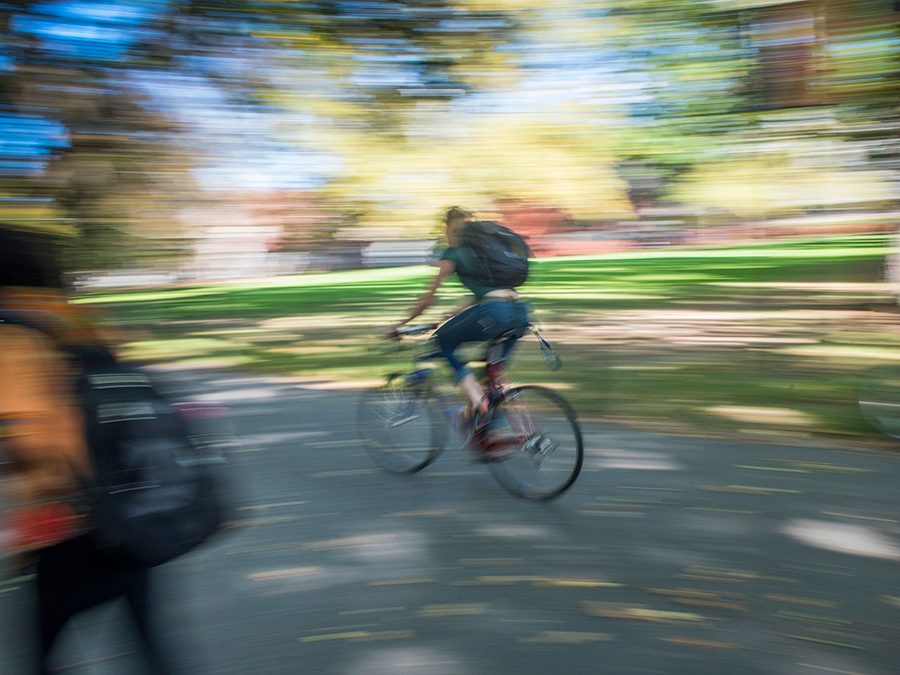
[[[522,288],[563,359],[526,338],[517,381],[560,388],[583,418],[651,428],[891,447],[857,409],[873,366],[900,360],[882,235],[535,262]],[[85,293],[149,362],[365,386],[409,362],[379,349],[429,267]],[[424,320],[463,295],[450,285]]]

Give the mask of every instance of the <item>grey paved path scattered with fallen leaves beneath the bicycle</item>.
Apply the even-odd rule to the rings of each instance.
[[[589,425],[577,483],[536,504],[453,449],[416,476],[373,468],[356,392],[169,377],[243,437],[247,527],[157,574],[185,673],[900,672],[900,455]],[[0,587],[5,629],[29,592]],[[79,617],[63,672],[141,672],[123,616]]]

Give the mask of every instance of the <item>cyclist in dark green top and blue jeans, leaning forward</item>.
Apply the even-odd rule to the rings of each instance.
[[[528,308],[514,288],[486,286],[474,276],[473,266],[469,262],[471,252],[460,245],[462,231],[471,219],[472,214],[459,207],[447,211],[444,222],[448,246],[440,255],[438,273],[428,290],[413,305],[409,316],[392,327],[396,330],[424,312],[444,280],[453,274],[472,291],[473,295],[456,307],[432,337],[438,351],[456,372],[458,386],[466,394],[467,403],[462,412],[464,423],[470,422],[476,411],[487,412],[488,401],[475,376],[456,356],[457,347],[464,342],[493,340],[508,331],[517,340],[530,325]],[[503,356],[513,348],[515,340],[506,342]]]

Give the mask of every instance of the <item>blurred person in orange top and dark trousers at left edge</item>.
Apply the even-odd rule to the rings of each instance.
[[[93,474],[77,364],[67,345],[102,343],[91,317],[70,304],[50,242],[0,225],[0,460],[12,486],[7,544],[36,575],[34,672],[47,675],[71,617],[123,597],[149,670],[165,675],[150,629],[149,570],[102,548],[82,490]]]

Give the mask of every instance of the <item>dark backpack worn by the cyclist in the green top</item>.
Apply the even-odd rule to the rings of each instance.
[[[515,288],[528,279],[531,250],[521,235],[488,220],[466,223],[460,244],[470,255],[466,276],[484,286]]]

